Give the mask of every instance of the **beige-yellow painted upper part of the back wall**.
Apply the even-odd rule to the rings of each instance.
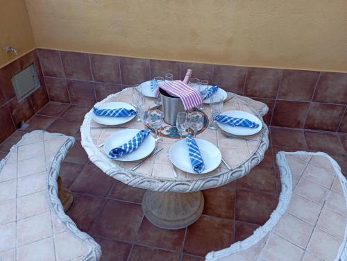
[[[346,0],[26,0],[38,47],[347,71]]]

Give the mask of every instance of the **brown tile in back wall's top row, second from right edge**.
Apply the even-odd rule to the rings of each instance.
[[[311,101],[318,76],[318,71],[283,71],[277,98],[291,101]]]

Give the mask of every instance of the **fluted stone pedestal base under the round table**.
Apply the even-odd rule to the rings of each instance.
[[[147,190],[142,210],[159,228],[179,229],[193,224],[203,213],[203,193],[153,192]]]

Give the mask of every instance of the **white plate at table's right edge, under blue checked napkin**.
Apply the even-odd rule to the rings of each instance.
[[[254,121],[256,124],[259,124],[257,128],[247,128],[247,127],[239,127],[239,126],[233,127],[228,124],[223,124],[217,121],[219,128],[224,130],[226,133],[239,135],[239,136],[248,136],[248,135],[253,135],[255,133],[259,133],[260,130],[262,130],[262,121],[260,121],[260,119],[258,119],[254,115],[251,115],[251,113],[243,112],[241,110],[229,110],[228,112],[222,112],[221,115],[249,119],[250,121]]]

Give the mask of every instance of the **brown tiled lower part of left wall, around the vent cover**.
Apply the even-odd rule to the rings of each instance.
[[[18,102],[11,78],[22,69],[34,63],[37,76],[40,78],[40,88],[35,90],[23,101]],[[49,96],[44,85],[37,50],[22,56],[0,69],[0,142],[11,135],[22,121],[30,119],[35,112],[49,102]]]

